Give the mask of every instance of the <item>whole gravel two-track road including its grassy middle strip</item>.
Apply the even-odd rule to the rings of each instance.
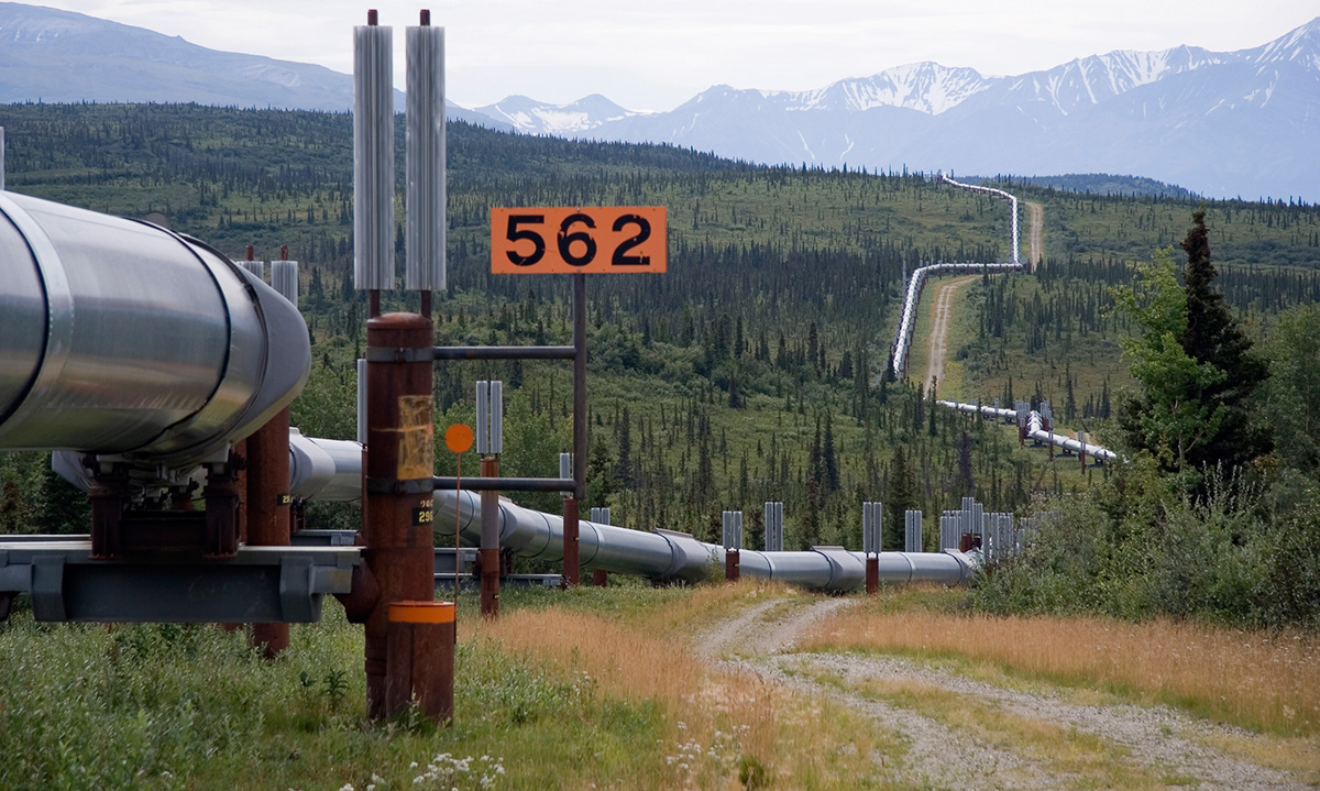
[[[896,787],[1302,791],[1320,782],[1315,773],[1243,758],[1258,734],[1168,706],[1115,703],[1045,683],[990,683],[948,663],[796,648],[818,619],[851,606],[857,600],[760,601],[700,635],[696,648],[710,662],[862,714],[890,743],[902,745],[895,754],[873,755]],[[1218,746],[1224,742],[1239,749],[1230,754]]]

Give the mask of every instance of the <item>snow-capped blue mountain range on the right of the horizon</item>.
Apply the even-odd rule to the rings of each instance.
[[[611,104],[561,131],[494,118],[532,133],[672,143],[767,164],[1131,173],[1209,197],[1313,202],[1320,18],[1234,53],[1121,50],[1015,77],[912,63],[814,91],[714,86],[668,112]]]

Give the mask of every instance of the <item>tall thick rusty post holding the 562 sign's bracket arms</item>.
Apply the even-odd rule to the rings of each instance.
[[[436,597],[432,333],[430,320],[414,313],[367,321],[362,555],[380,588],[366,623],[367,714],[374,718],[388,716],[387,677],[412,683],[388,676],[389,605]]]

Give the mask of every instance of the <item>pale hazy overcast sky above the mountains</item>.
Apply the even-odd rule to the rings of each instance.
[[[672,110],[711,85],[805,90],[936,61],[1022,74],[1115,49],[1259,46],[1320,15],[1316,0],[30,0],[211,49],[352,71],[354,25],[380,9],[403,87],[403,26],[444,25],[449,99],[603,94]]]

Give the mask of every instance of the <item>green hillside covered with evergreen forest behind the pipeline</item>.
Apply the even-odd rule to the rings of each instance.
[[[301,261],[313,341],[293,423],[305,434],[354,436],[366,301],[352,284],[348,115],[21,104],[0,107],[0,125],[9,190],[110,214],[160,213],[234,259],[248,246],[276,259],[288,246]],[[401,118],[397,135],[401,180]],[[902,544],[902,511],[920,508],[927,548],[936,549],[940,512],[965,495],[987,511],[1055,512],[1057,498],[1111,491],[1131,474],[1081,471],[1074,457],[1019,448],[1011,427],[954,415],[936,407],[929,383],[887,375],[907,275],[933,261],[1008,260],[1003,201],[916,172],[762,166],[668,145],[453,121],[447,145],[449,285],[434,305],[441,345],[569,342],[568,277],[490,273],[491,207],[668,207],[667,273],[587,283],[583,507],[610,506],[615,524],[711,539],[721,511],[743,510],[747,545],[759,547],[762,503],[783,500],[787,548],[858,548],[862,502],[882,500],[888,547]],[[983,276],[960,292],[940,397],[1048,400],[1061,428],[1123,446],[1115,411],[1139,383],[1121,346],[1144,327],[1115,293],[1139,289],[1138,264],[1155,251],[1177,252],[1199,207],[1217,265],[1213,285],[1233,320],[1263,353],[1305,359],[1305,350],[1278,346],[1299,327],[1320,329],[1308,308],[1320,297],[1320,207],[1204,202],[1172,189],[1131,194],[1146,185],[1111,176],[1056,182],[1068,190],[1011,176],[987,182],[1043,206],[1044,260],[1030,275]],[[401,194],[400,184],[400,271]],[[383,296],[385,310],[417,309],[414,294]],[[921,353],[913,354],[919,371]],[[1302,367],[1299,378],[1312,375]],[[437,436],[471,420],[474,382],[487,378],[506,383],[503,471],[554,475],[557,454],[570,445],[565,364],[437,366]],[[1308,417],[1305,386],[1262,388],[1257,416],[1302,428],[1257,465],[1269,474],[1242,486],[1278,494],[1270,487],[1282,475],[1294,499],[1313,497],[1303,493],[1315,489],[1320,423]],[[437,473],[447,474],[453,456],[442,445],[437,460]],[[475,473],[475,458],[465,464],[465,474]],[[0,532],[86,530],[44,454],[4,454],[0,475]],[[1175,489],[1171,497],[1188,508],[1204,506]],[[1056,499],[1043,506],[1044,498]],[[558,508],[557,495],[515,499]],[[310,516],[321,527],[356,519],[338,506],[313,506]],[[1055,606],[1049,597],[1014,600],[1019,593],[1001,590],[997,601]]]

